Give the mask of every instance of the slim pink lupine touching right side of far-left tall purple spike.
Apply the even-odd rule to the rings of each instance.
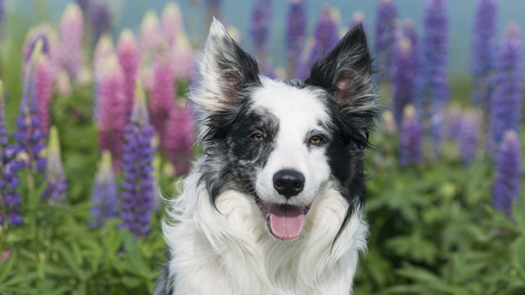
[[[40,117],[40,130],[47,136],[51,125],[49,104],[53,97],[53,70],[46,56],[40,56],[36,66],[36,95],[38,115]]]

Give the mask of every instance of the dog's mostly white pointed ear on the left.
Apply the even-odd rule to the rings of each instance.
[[[200,73],[202,92],[192,100],[208,112],[238,103],[241,90],[260,83],[255,59],[235,43],[215,18],[209,28]]]

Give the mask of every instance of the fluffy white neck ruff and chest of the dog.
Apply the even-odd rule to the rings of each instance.
[[[186,178],[168,210],[171,222],[163,224],[173,294],[348,294],[367,226],[353,213],[332,245],[348,205],[331,184],[301,234],[280,240],[253,198],[226,191],[216,198],[217,210],[199,177]]]

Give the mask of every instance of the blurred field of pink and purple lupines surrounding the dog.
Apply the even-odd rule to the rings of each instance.
[[[148,294],[212,16],[272,78],[362,23],[385,111],[355,294],[525,294],[521,0],[0,0],[0,293]]]

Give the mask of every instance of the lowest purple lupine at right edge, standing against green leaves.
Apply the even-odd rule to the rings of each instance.
[[[503,135],[496,162],[498,172],[492,188],[493,206],[510,217],[512,202],[519,199],[521,191],[521,147],[516,131],[508,130]]]

